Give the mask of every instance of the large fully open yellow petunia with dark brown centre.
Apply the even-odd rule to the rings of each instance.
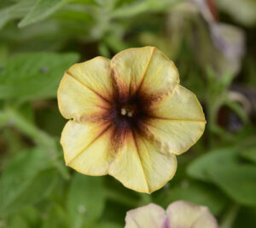
[[[147,193],[172,179],[175,156],[195,144],[206,124],[195,94],[179,85],[177,68],[154,47],[73,65],[58,104],[69,119],[61,134],[67,165]]]

